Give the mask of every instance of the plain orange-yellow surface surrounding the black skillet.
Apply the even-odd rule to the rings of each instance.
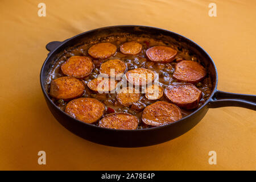
[[[38,4],[46,3],[46,17]],[[209,3],[217,17],[208,15]],[[0,169],[188,170],[256,169],[256,113],[241,107],[209,109],[188,133],[142,148],[88,142],[50,113],[39,72],[53,40],[94,28],[139,24],[177,32],[213,58],[218,89],[256,94],[256,1],[1,0]],[[38,164],[38,151],[47,164]],[[209,165],[208,152],[217,152]]]

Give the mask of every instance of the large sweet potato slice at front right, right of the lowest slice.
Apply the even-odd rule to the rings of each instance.
[[[174,104],[157,101],[145,107],[142,113],[142,121],[146,125],[162,126],[181,119],[180,108]]]

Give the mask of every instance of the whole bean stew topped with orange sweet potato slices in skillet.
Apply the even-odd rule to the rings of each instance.
[[[199,57],[171,42],[135,35],[65,50],[49,72],[48,85],[52,101],[71,117],[120,130],[179,121],[212,92]]]

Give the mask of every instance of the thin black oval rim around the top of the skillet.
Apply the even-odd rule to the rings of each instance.
[[[175,121],[175,122],[172,122],[172,123],[169,123],[168,125],[163,125],[163,126],[156,126],[156,127],[151,127],[151,128],[147,128],[147,129],[136,129],[136,130],[118,130],[118,129],[109,129],[109,128],[105,128],[105,127],[100,127],[100,126],[96,126],[96,125],[92,125],[92,124],[89,124],[89,123],[85,123],[85,122],[82,122],[80,121],[79,119],[76,119],[76,118],[73,118],[71,117],[70,115],[68,115],[67,113],[65,113],[63,110],[59,109],[59,107],[57,107],[53,101],[51,100],[51,98],[49,98],[47,92],[46,92],[46,89],[44,89],[44,82],[43,82],[43,69],[47,63],[47,61],[49,60],[49,57],[51,57],[51,55],[61,46],[63,46],[64,44],[66,44],[69,40],[72,40],[72,39],[75,39],[77,38],[78,36],[81,36],[81,35],[84,35],[84,34],[88,34],[89,32],[93,32],[93,31],[101,31],[101,30],[104,30],[104,29],[108,29],[108,28],[118,28],[118,27],[142,27],[142,28],[153,28],[155,30],[159,30],[159,31],[166,31],[166,32],[169,32],[171,34],[175,34],[177,36],[180,36],[181,38],[183,39],[186,39],[188,40],[189,42],[191,42],[192,44],[194,44],[196,47],[200,48],[209,58],[210,61],[212,61],[212,64],[213,64],[213,67],[214,67],[214,71],[215,71],[215,85],[214,85],[214,89],[212,90],[212,94],[210,94],[210,97],[208,98],[208,100],[201,106],[199,107],[198,109],[196,109],[195,111],[193,111],[193,113],[185,116],[184,118],[181,118],[179,119],[178,121]],[[67,40],[64,40],[63,42],[61,42],[59,44],[59,46],[57,46],[55,49],[53,49],[51,52],[48,53],[47,55],[47,58],[46,60],[44,61],[43,65],[42,65],[42,68],[41,68],[41,71],[40,71],[40,85],[41,85],[41,88],[42,88],[42,91],[43,91],[43,94],[44,96],[47,98],[47,100],[57,109],[59,110],[62,114],[65,114],[67,115],[68,118],[71,118],[72,120],[76,121],[76,122],[80,122],[88,127],[96,127],[97,129],[99,130],[109,130],[109,131],[114,131],[114,132],[131,132],[131,133],[136,133],[136,132],[140,132],[140,131],[151,131],[151,130],[159,130],[159,129],[163,129],[164,127],[170,127],[171,125],[174,125],[175,123],[177,122],[182,122],[184,121],[185,119],[191,117],[192,115],[196,114],[198,111],[200,111],[201,109],[203,109],[205,106],[207,106],[209,104],[210,101],[212,101],[212,98],[213,98],[213,95],[214,93],[216,92],[217,90],[217,84],[218,84],[218,72],[217,72],[217,68],[216,68],[216,65],[214,64],[214,61],[212,60],[212,57],[210,57],[210,55],[201,47],[199,46],[199,44],[195,43],[193,40],[191,39],[188,39],[186,38],[185,36],[183,35],[180,35],[180,34],[177,34],[176,32],[172,32],[170,30],[165,30],[163,28],[157,28],[157,27],[151,27],[151,26],[140,26],[140,25],[118,25],[118,26],[108,26],[108,27],[101,27],[101,28],[96,28],[96,29],[93,29],[93,30],[89,30],[89,31],[86,31],[86,32],[82,32],[81,34],[78,34],[78,35],[75,35],[73,36],[72,38],[69,38]]]

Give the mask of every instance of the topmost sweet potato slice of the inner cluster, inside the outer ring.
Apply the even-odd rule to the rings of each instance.
[[[113,72],[114,75],[112,76],[119,76],[122,73],[125,73],[126,65],[125,63],[123,63],[123,61],[119,59],[109,60],[101,64],[100,73],[106,74],[110,77],[110,71],[111,71],[110,69],[114,69],[114,72]]]

